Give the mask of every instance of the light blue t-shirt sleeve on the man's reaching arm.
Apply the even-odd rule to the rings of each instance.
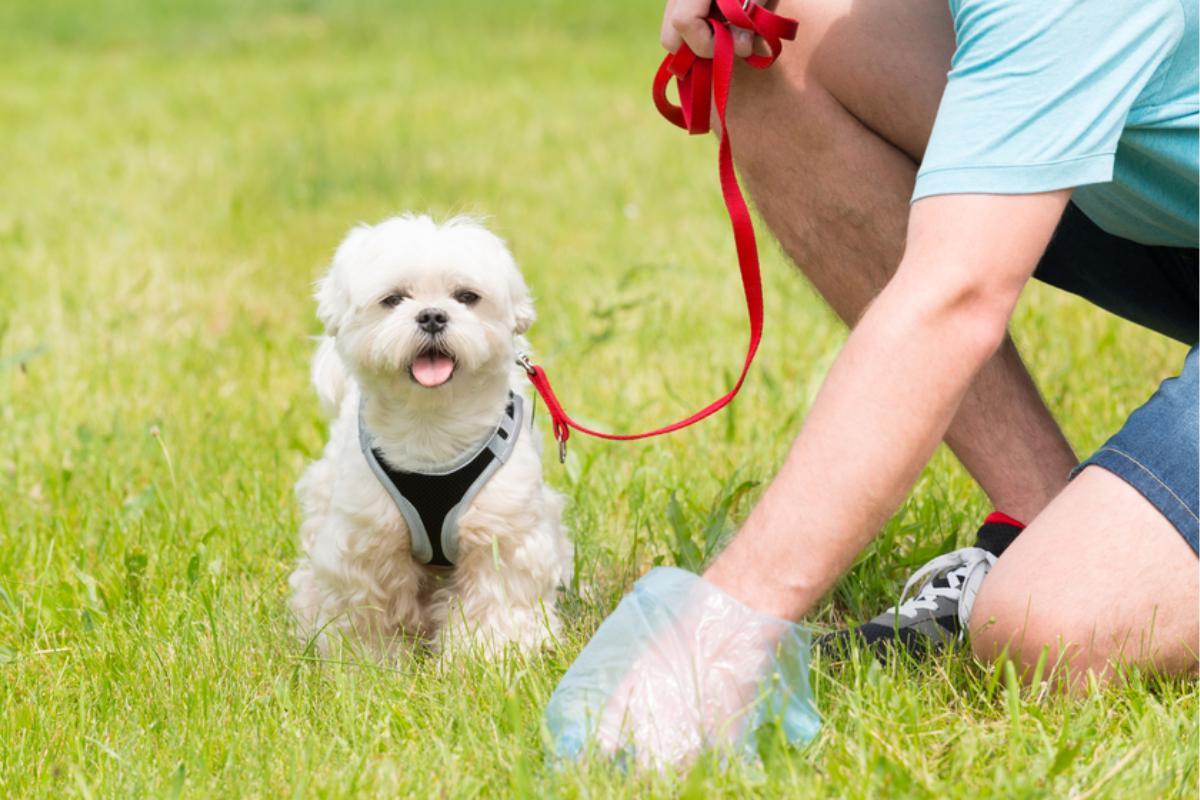
[[[958,47],[913,200],[1111,180],[1126,119],[1183,31],[1178,0],[952,0],[952,12]]]

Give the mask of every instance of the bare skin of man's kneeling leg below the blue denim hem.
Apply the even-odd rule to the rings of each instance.
[[[971,614],[972,648],[1028,670],[1043,648],[1072,681],[1111,664],[1182,674],[1200,649],[1200,572],[1180,531],[1133,486],[1088,467],[1009,546]]]

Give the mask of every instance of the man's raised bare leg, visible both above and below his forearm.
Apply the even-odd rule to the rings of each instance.
[[[954,50],[944,0],[782,2],[799,19],[770,70],[740,68],[730,136],[785,251],[853,325],[904,251],[908,198]],[[1010,341],[947,444],[997,509],[1031,519],[1064,486],[1070,446]]]

